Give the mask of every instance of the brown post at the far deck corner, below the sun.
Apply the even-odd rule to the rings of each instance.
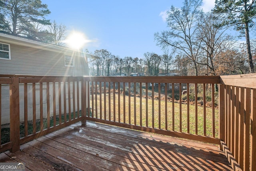
[[[86,80],[82,79],[81,83],[81,111],[82,111],[82,123],[86,123]]]

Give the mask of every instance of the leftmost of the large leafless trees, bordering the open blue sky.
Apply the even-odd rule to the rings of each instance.
[[[174,6],[167,12],[166,19],[169,30],[161,34],[155,33],[154,37],[158,46],[163,49],[169,46],[174,51],[187,56],[194,64],[195,75],[198,76],[198,53],[196,33],[198,32],[198,20],[201,16],[201,0],[185,0],[184,6],[175,8]]]

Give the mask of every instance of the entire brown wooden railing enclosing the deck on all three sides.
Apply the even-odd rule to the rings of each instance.
[[[5,86],[8,93],[4,92]],[[9,97],[3,99],[3,94]],[[20,144],[34,138],[78,121],[92,120],[215,143],[224,150],[235,170],[256,169],[256,74],[8,75],[0,76],[0,97],[0,118],[4,111],[1,106],[10,106],[10,141],[1,144],[0,152],[17,151]]]

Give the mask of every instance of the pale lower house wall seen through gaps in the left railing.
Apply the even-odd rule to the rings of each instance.
[[[36,84],[36,119],[40,119],[40,90],[39,84]],[[73,85],[70,84],[70,110],[73,113],[73,100],[76,102],[75,111],[77,111],[77,83],[75,82],[75,95],[73,95]],[[20,84],[20,121],[24,121],[24,85]],[[53,91],[52,83],[49,84],[50,89],[50,116],[53,116]],[[59,115],[59,98],[58,98],[58,83],[55,85],[56,94],[56,115]],[[61,113],[64,113],[64,94],[63,83],[61,83]],[[81,82],[79,82],[79,92],[81,92]],[[74,96],[74,98],[73,98]],[[47,101],[46,101],[46,84],[43,84],[43,117],[47,118]],[[32,98],[32,84],[28,84],[28,120],[33,119],[33,98]],[[81,93],[79,94],[79,111],[81,110]],[[68,83],[66,83],[66,111],[68,113]],[[1,125],[10,123],[10,95],[9,85],[2,85],[2,118]]]

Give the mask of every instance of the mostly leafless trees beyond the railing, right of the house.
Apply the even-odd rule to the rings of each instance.
[[[254,73],[256,64],[256,0],[216,0],[203,12],[202,0],[184,0],[182,8],[167,11],[169,30],[154,34],[163,54],[122,57],[96,50],[100,59],[90,64],[92,75],[143,72],[148,76],[178,72],[182,76]],[[232,30],[235,30],[232,32]],[[237,31],[237,32],[236,32]],[[250,38],[249,32],[252,31]],[[233,34],[231,34],[233,33]],[[238,36],[234,36],[238,33]],[[238,38],[245,42],[239,43]]]

